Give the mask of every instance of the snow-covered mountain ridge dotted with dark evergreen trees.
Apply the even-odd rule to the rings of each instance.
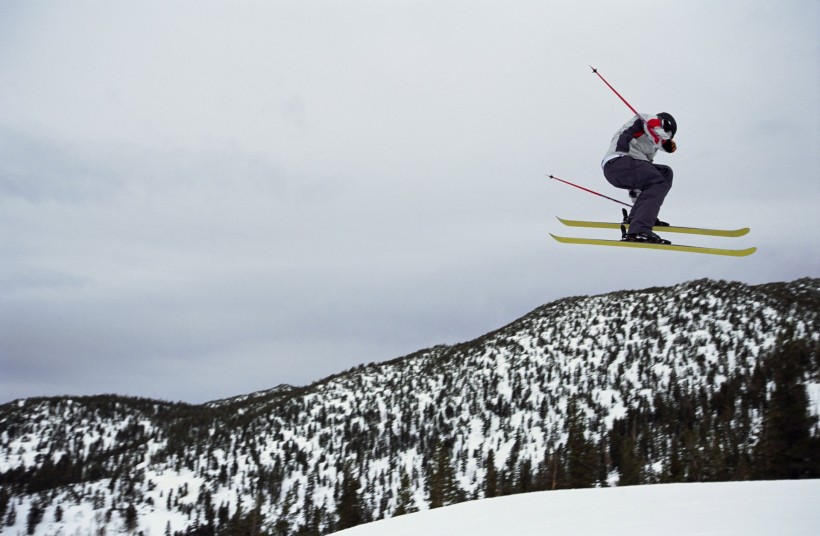
[[[818,313],[818,279],[699,280],[565,298],[473,341],[201,406],[15,401],[0,528],[326,534],[518,492],[776,477],[773,393],[811,397],[818,437]]]

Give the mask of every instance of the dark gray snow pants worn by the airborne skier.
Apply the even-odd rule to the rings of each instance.
[[[672,188],[672,168],[621,156],[604,164],[604,177],[616,188],[641,191],[629,213],[629,232],[651,231]]]

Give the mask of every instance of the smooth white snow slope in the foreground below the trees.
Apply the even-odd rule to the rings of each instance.
[[[814,536],[820,480],[544,491],[376,521],[334,536]]]

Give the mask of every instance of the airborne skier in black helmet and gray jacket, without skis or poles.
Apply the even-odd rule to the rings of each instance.
[[[677,147],[672,138],[677,130],[675,118],[666,112],[639,114],[612,136],[601,166],[606,180],[616,188],[629,190],[632,198],[625,241],[671,244],[653,233],[652,227],[669,225],[657,218],[672,188],[672,168],[655,164],[653,160],[659,148],[667,153],[675,152]]]

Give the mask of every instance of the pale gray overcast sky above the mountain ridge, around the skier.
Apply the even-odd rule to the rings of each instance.
[[[0,3],[0,403],[204,402],[544,303],[820,276],[816,1]],[[661,218],[747,258],[562,245],[678,122]],[[618,238],[618,233],[609,233]]]

